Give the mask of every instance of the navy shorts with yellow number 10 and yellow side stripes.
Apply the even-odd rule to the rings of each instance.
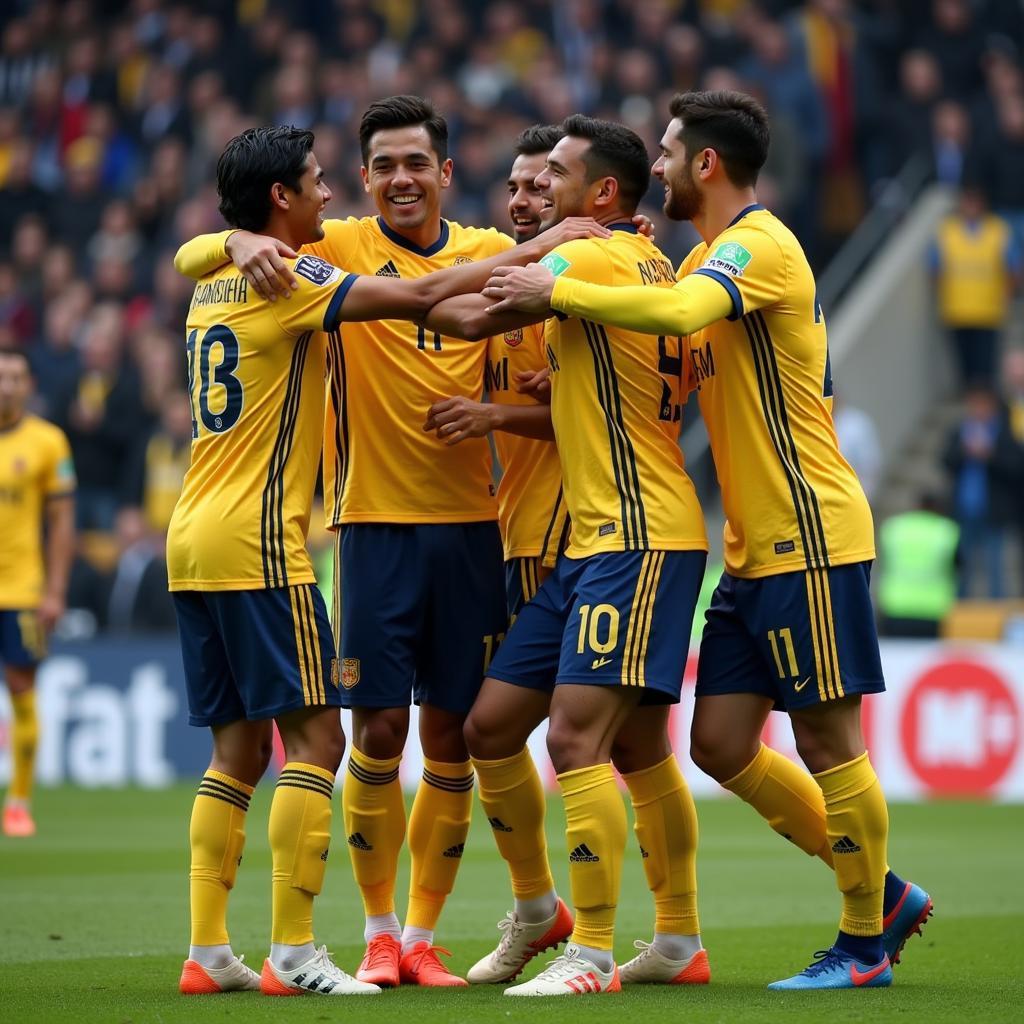
[[[487,675],[549,692],[556,683],[636,686],[641,703],[676,703],[707,561],[702,551],[563,555]]]

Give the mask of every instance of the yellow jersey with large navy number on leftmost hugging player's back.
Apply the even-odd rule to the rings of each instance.
[[[312,255],[267,302],[233,266],[196,285],[185,324],[191,461],[167,534],[175,590],[313,583],[306,552],[323,450],[324,332],[355,278]]]

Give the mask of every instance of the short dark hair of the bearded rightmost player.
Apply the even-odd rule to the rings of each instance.
[[[679,137],[688,157],[714,150],[737,188],[756,184],[768,159],[771,131],[765,109],[745,92],[681,92],[669,113],[683,123]]]

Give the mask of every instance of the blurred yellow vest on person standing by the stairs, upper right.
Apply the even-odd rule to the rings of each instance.
[[[997,328],[1010,305],[1010,228],[991,214],[968,225],[947,217],[939,227],[939,314],[947,327]]]

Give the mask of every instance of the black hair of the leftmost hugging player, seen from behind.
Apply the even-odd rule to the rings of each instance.
[[[279,181],[300,191],[313,133],[292,125],[247,128],[217,161],[221,216],[231,227],[261,231],[270,218],[270,188]]]

